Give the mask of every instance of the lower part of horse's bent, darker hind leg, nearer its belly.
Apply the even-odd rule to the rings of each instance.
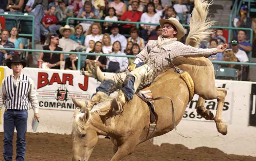
[[[199,96],[196,107],[196,112],[204,117],[206,120],[214,120],[214,115],[210,110],[205,108],[205,99]]]

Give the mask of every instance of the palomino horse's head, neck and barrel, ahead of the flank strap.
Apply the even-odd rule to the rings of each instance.
[[[169,82],[172,82],[171,84]],[[172,69],[159,75],[149,87],[154,97],[168,96],[173,100],[175,123],[180,122],[189,101],[186,83]],[[155,100],[157,129],[149,134],[150,113],[148,105],[138,96],[125,104],[121,115],[114,116],[110,101],[105,101],[85,113],[74,113],[73,161],[88,161],[98,135],[110,136],[114,156],[119,161],[135,150],[135,146],[155,136],[171,131],[173,127],[170,100]]]

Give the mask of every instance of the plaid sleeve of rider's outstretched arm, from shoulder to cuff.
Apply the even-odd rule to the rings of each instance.
[[[177,52],[179,56],[185,57],[209,57],[211,55],[217,54],[217,48],[199,49],[192,46],[184,45],[180,42],[177,43],[177,48],[174,50],[177,50],[175,52]]]

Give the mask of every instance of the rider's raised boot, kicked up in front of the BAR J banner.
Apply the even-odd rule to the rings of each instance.
[[[103,72],[101,71],[100,67],[94,63],[92,64],[89,62],[89,69],[88,71],[81,70],[81,74],[88,77],[93,77],[97,79],[100,82],[103,82],[105,79],[105,76],[103,75]]]

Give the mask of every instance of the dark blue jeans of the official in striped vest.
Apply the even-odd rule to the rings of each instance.
[[[27,132],[27,110],[7,110],[4,112],[4,140],[3,157],[5,161],[13,158],[14,127],[17,130],[16,161],[25,160],[25,134]]]

